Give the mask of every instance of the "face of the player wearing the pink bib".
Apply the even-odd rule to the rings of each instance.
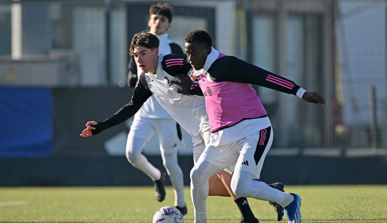
[[[200,70],[204,67],[208,54],[211,52],[211,47],[206,47],[204,43],[200,42],[186,42],[185,53],[188,56],[191,66],[195,70]]]

